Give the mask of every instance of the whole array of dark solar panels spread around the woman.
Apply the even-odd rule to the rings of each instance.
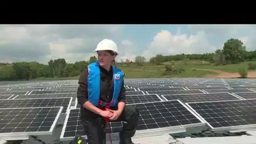
[[[65,116],[61,140],[86,136],[77,103],[77,80],[1,85],[0,136],[52,132]],[[256,82],[248,79],[125,79],[127,105],[139,109],[136,134],[206,125],[214,131],[241,131],[256,121]],[[125,122],[112,121],[109,133]]]

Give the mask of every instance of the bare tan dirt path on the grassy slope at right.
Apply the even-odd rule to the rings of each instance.
[[[237,78],[240,77],[238,72],[224,72],[218,69],[198,69],[198,70],[207,70],[211,72],[216,72],[218,75],[205,75],[205,77],[213,78]],[[248,72],[248,78],[256,78],[256,72]]]

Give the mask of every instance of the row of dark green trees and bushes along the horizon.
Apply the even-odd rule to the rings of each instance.
[[[229,39],[224,43],[222,49],[216,50],[214,53],[203,54],[178,54],[163,56],[158,54],[146,61],[144,56],[136,56],[132,61],[129,59],[121,60],[116,64],[120,66],[142,66],[144,64],[160,65],[166,61],[189,61],[203,60],[211,63],[230,64],[243,61],[254,61],[256,59],[256,51],[246,51],[245,45],[239,39]],[[40,64],[33,62],[13,62],[0,63],[0,80],[30,80],[40,77],[74,77],[80,75],[83,69],[93,61],[95,56],[91,56],[88,61],[76,61],[75,63],[67,63],[65,59],[52,59],[48,64]]]

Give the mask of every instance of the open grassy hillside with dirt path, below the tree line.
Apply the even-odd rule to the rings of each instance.
[[[256,65],[256,61],[247,62]],[[164,75],[165,66],[171,62],[165,62],[161,65],[145,64],[137,66],[136,64],[117,64],[125,72],[125,78],[165,78],[165,77],[219,77],[219,78],[237,78],[240,77],[239,69],[243,64],[226,64],[215,66],[206,61],[189,61],[186,64],[183,61],[176,61],[174,66],[182,69],[181,72],[174,72],[170,75]],[[255,78],[256,70],[248,70],[248,78]],[[77,80],[79,75],[74,77],[39,77],[32,80]]]

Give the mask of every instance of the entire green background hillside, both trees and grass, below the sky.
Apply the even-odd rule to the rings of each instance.
[[[67,63],[65,59],[51,59],[48,64],[15,62],[0,64],[0,80],[63,80],[77,79],[85,67],[93,61]],[[115,63],[125,72],[125,78],[158,77],[256,77],[256,51],[246,51],[238,39],[229,39],[223,49],[214,53],[157,54],[146,61],[144,56]]]

